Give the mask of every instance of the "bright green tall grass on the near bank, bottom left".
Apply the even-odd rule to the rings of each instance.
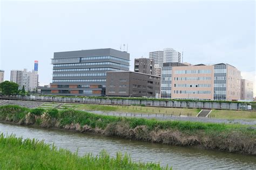
[[[132,162],[128,155],[115,158],[102,151],[97,157],[79,157],[43,141],[0,135],[0,169],[168,169],[159,164]]]

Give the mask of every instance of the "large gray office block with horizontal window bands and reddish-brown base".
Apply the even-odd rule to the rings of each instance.
[[[41,93],[105,96],[106,72],[128,71],[130,54],[114,49],[55,52],[50,88]]]

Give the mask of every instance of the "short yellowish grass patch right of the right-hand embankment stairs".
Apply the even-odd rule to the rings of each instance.
[[[254,119],[256,120],[256,112],[253,111],[228,111],[228,110],[212,110],[211,115],[214,118],[221,119]]]

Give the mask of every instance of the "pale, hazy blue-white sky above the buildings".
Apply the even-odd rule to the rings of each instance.
[[[33,69],[52,82],[53,52],[128,44],[134,58],[166,47],[191,64],[228,63],[254,81],[255,1],[6,1],[1,2],[0,70]],[[123,48],[122,48],[123,50]]]

